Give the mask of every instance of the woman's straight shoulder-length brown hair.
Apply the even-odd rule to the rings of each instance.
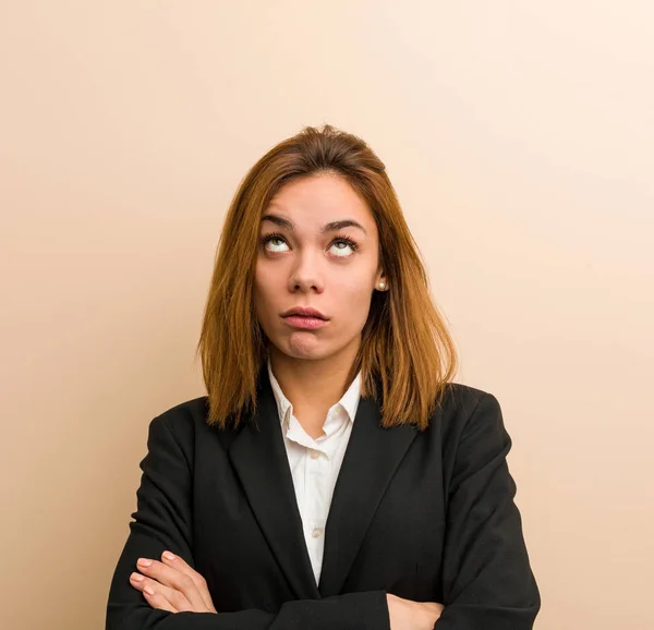
[[[386,427],[421,429],[457,369],[457,353],[429,295],[427,276],[386,167],[360,137],[331,125],[306,126],[264,155],[241,181],[216,252],[197,353],[209,424],[227,427],[256,410],[267,338],[254,312],[259,221],[271,197],[296,178],[343,177],[367,202],[379,232],[388,290],[374,291],[347,383],[362,369],[362,396],[380,404]]]

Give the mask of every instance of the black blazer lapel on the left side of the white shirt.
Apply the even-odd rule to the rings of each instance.
[[[302,519],[270,380],[258,380],[257,412],[232,441],[229,456],[270,549],[299,599],[320,594],[304,542]]]

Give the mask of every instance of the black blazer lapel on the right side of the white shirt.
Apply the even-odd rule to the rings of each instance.
[[[362,398],[325,529],[323,597],[340,594],[377,505],[417,434],[413,425],[383,428],[380,421],[375,400]]]

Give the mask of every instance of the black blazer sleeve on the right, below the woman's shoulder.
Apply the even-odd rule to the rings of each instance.
[[[497,399],[482,392],[457,444],[435,630],[531,630],[541,607],[513,501],[511,448]]]

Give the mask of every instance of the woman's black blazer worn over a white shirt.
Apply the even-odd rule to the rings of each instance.
[[[497,399],[450,384],[429,427],[380,427],[362,398],[325,529],[316,586],[267,371],[256,416],[206,423],[207,399],[149,424],[137,509],[107,630],[388,630],[386,593],[445,605],[436,630],[528,630],[541,607]],[[170,549],[218,615],[152,608],[130,584]]]

